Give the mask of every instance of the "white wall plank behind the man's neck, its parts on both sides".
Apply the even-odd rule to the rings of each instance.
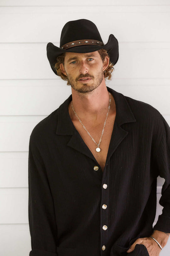
[[[46,80],[49,83],[48,80]],[[63,86],[8,86],[1,87],[0,115],[49,115],[71,94],[65,81]],[[135,100],[155,107],[162,115],[170,114],[169,85],[114,85],[114,78],[107,86]],[[126,80],[125,80],[126,83]],[[31,84],[31,81],[30,81]],[[2,131],[4,124],[1,125]],[[13,128],[13,126],[11,126]],[[4,127],[6,129],[6,127]],[[5,132],[5,130],[3,131]],[[10,132],[10,130],[9,130]],[[1,133],[2,134],[2,133]],[[13,136],[13,134],[11,134]],[[5,141],[4,141],[5,142]]]

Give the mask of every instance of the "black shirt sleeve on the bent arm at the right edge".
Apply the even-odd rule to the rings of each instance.
[[[159,200],[163,209],[153,229],[170,233],[170,127],[163,117],[162,119],[162,135],[156,151],[155,163],[159,176],[165,179]]]

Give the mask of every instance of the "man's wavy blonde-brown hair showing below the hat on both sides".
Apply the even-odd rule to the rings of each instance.
[[[109,57],[107,50],[105,49],[100,49],[98,50],[98,52],[103,62],[106,56]],[[57,71],[58,76],[60,76],[63,80],[67,81],[67,85],[70,85],[67,76],[65,76],[60,69],[60,64],[62,63],[64,65],[64,58],[65,58],[65,52],[62,53],[59,57],[57,57],[57,62],[53,65],[53,67]],[[103,71],[104,77],[108,80],[111,80],[111,72],[115,70],[113,66],[114,64],[111,63],[109,60],[109,65],[107,69]]]

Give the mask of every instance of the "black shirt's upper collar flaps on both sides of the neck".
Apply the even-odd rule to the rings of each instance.
[[[115,122],[117,125],[122,125],[124,123],[135,122],[136,119],[133,112],[127,102],[126,97],[116,92],[115,90],[107,87],[108,91],[113,95],[116,104],[116,118]],[[59,106],[58,108],[58,123],[56,134],[58,135],[72,135],[75,130],[75,126],[71,121],[68,106],[72,100],[72,94]]]

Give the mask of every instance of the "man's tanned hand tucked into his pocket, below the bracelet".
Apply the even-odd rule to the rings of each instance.
[[[127,250],[127,253],[131,253],[136,244],[143,244],[147,248],[149,256],[159,256],[161,252],[161,248],[151,237],[144,237],[138,238]]]

